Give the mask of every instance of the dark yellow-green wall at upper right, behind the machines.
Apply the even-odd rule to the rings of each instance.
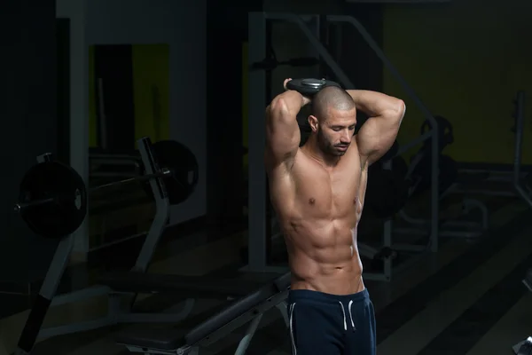
[[[452,122],[455,143],[445,153],[458,161],[512,162],[512,100],[518,90],[532,93],[529,13],[528,0],[385,8],[384,51],[431,112]],[[405,143],[419,134],[422,114],[384,71],[384,91],[408,106]],[[531,123],[527,114],[524,163],[532,162]]]

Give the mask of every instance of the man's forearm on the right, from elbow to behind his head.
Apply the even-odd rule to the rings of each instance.
[[[376,91],[348,90],[348,94],[355,101],[357,110],[369,116],[379,116],[387,112],[404,112],[401,99],[388,96]]]

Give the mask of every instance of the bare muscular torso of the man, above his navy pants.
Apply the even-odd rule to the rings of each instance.
[[[270,198],[285,234],[293,289],[347,295],[364,289],[356,226],[364,206],[367,170],[353,139],[327,167],[299,149],[293,164],[269,171]]]

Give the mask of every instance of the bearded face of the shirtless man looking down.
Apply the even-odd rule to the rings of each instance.
[[[317,125],[317,143],[325,154],[342,156],[348,151],[355,134],[356,109],[328,110],[325,119]]]

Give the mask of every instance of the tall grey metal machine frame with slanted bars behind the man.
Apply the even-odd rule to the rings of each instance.
[[[437,122],[434,119],[433,114],[426,108],[421,102],[415,92],[411,89],[410,85],[406,83],[392,63],[387,59],[384,52],[379,48],[379,45],[372,39],[372,36],[366,31],[362,24],[353,17],[350,16],[325,16],[326,21],[330,22],[342,22],[347,23],[363,36],[364,40],[370,45],[373,51],[377,54],[379,59],[383,62],[385,67],[390,70],[395,79],[402,85],[403,90],[408,94],[411,100],[424,114],[426,121],[430,125],[430,130],[425,134],[419,136],[400,147],[397,155],[403,154],[411,148],[418,146],[426,139],[431,139],[431,218],[430,218],[430,232],[427,238],[426,246],[403,244],[398,245],[392,242],[392,220],[388,219],[384,225],[383,233],[383,248],[392,248],[398,251],[419,252],[419,256],[423,255],[425,251],[436,252],[438,250],[438,159],[439,159],[439,144],[437,133]],[[340,66],[332,59],[331,54],[326,51],[322,43],[319,42],[317,32],[312,31],[309,27],[309,23],[317,24],[319,27],[320,16],[318,15],[296,15],[289,13],[265,13],[265,12],[250,12],[248,17],[248,62],[255,63],[260,62],[266,58],[266,31],[267,21],[290,21],[295,23],[301,32],[306,36],[311,43],[312,47],[317,51],[319,56],[325,61],[328,67],[331,68],[337,80],[345,88],[354,89],[355,85],[351,83],[348,76],[343,72]],[[318,32],[319,33],[319,32]],[[277,271],[278,268],[268,264],[266,250],[267,243],[270,236],[267,235],[266,229],[266,212],[268,209],[268,201],[266,198],[267,184],[266,184],[266,171],[263,164],[263,149],[265,146],[265,117],[264,109],[268,105],[265,102],[267,98],[266,92],[266,75],[260,70],[251,70],[249,72],[249,89],[248,89],[248,107],[249,107],[249,201],[248,206],[253,206],[253,209],[249,210],[249,248],[248,248],[248,260],[249,264],[246,270],[251,272],[267,272]],[[387,162],[391,164],[391,162]],[[388,165],[389,166],[389,165]],[[371,178],[371,177],[370,177]],[[372,255],[378,252],[375,248],[359,243],[359,250],[361,253]],[[412,262],[417,261],[416,257],[411,257]],[[405,262],[395,268],[395,272],[398,269],[403,269],[410,263]],[[384,260],[384,272],[379,273],[366,273],[364,277],[367,280],[391,280],[392,277],[392,258],[387,257]]]

